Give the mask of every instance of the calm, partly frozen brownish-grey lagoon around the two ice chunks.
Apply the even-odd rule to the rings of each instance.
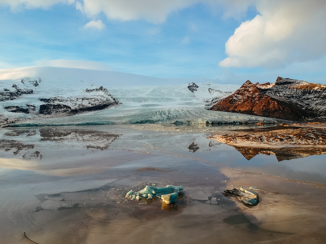
[[[234,147],[207,139],[209,132],[117,125],[0,133],[3,243],[324,243],[326,238],[325,155],[278,161],[259,154],[247,160]],[[171,206],[126,200],[130,189],[154,183],[185,190]],[[251,185],[261,189],[253,208],[221,193]]]

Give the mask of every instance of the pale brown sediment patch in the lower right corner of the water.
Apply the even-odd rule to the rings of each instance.
[[[260,201],[255,207],[248,208],[235,201],[250,223],[271,231],[291,233],[282,237],[290,243],[326,241],[326,185],[227,167],[221,172],[229,177],[227,188],[257,186],[259,189]]]

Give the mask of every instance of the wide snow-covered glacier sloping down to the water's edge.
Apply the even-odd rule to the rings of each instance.
[[[197,81],[195,89],[190,89],[188,83],[168,85],[171,81],[163,78],[55,67],[2,69],[0,79],[0,119],[3,126],[276,122],[272,118],[207,110],[210,102],[230,95],[239,85]],[[39,112],[45,101],[53,103],[53,98],[59,98],[54,103],[59,101],[70,107],[78,105],[71,102],[78,98],[82,106],[87,106],[85,103],[98,100],[97,93],[89,92],[96,89],[97,93],[102,89],[101,101],[107,99],[116,103],[87,113],[78,110],[71,114],[65,110],[63,114],[42,115]],[[109,97],[103,98],[103,89]]]

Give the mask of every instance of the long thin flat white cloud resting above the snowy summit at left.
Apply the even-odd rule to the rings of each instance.
[[[36,62],[38,66],[51,66],[51,67],[64,67],[64,68],[79,68],[79,69],[92,69],[92,70],[110,70],[109,66],[105,63],[95,61],[82,61],[82,60],[40,60]]]

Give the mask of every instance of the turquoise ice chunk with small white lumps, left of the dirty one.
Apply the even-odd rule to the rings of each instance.
[[[128,191],[126,198],[130,198],[131,200],[140,200],[141,198],[152,199],[153,197],[157,197],[161,198],[164,203],[171,204],[175,202],[178,197],[178,193],[183,189],[184,187],[182,185],[167,185],[165,187],[147,185],[139,192],[134,192],[133,190]]]

